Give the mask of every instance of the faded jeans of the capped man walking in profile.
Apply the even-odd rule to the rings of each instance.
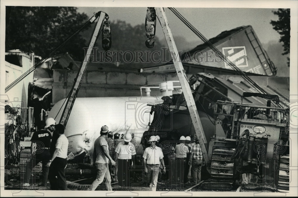
[[[94,182],[91,184],[91,191],[94,191],[98,185],[100,185],[103,182],[103,179],[105,180],[105,190],[106,191],[112,191],[111,186],[111,175],[109,171],[108,163],[95,163],[97,168],[97,177],[94,180]]]

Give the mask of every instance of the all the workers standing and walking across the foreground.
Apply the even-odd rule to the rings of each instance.
[[[53,133],[53,136],[51,135]],[[119,141],[119,133],[114,134],[104,125],[100,136],[94,142],[92,156],[97,176],[88,190],[95,190],[105,180],[105,190],[112,191],[111,175],[119,187],[127,187],[134,177],[136,168],[136,147],[131,142],[130,133],[124,135],[124,141]],[[146,174],[145,183],[156,191],[158,179],[166,173],[164,154],[159,143],[159,136],[150,136],[148,146],[143,152],[143,168]],[[42,162],[42,186],[49,181],[51,190],[67,190],[65,168],[67,164],[68,140],[64,135],[64,126],[56,124],[53,118],[46,120],[44,129],[38,130],[31,138],[31,154],[35,157],[26,166],[24,186],[29,186],[32,168]],[[197,184],[201,180],[203,156],[198,139],[191,143],[190,136],[181,136],[179,143],[170,154],[170,185]],[[189,181],[191,176],[192,181]],[[177,187],[175,187],[177,188]],[[178,187],[179,188],[179,187]]]

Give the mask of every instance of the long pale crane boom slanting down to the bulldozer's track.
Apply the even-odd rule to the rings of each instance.
[[[191,120],[193,122],[195,133],[198,137],[200,145],[202,145],[201,150],[202,150],[203,157],[208,165],[208,162],[210,161],[209,161],[208,151],[207,151],[207,141],[200,121],[198,110],[196,108],[195,101],[193,99],[193,94],[190,90],[190,85],[187,81],[187,77],[185,76],[185,71],[182,66],[181,59],[178,54],[178,50],[174,42],[173,35],[171,33],[169,23],[167,22],[167,17],[164,13],[164,10],[162,7],[157,7],[156,10],[157,10],[156,13],[159,18],[160,24],[162,26],[162,31],[164,32],[164,37],[167,41],[167,45],[169,47],[169,50],[173,58],[173,63],[177,72],[178,79],[181,84],[181,88],[184,94],[185,101],[187,103]]]

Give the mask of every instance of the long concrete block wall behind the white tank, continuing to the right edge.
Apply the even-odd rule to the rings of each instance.
[[[72,89],[77,70],[54,70],[52,83],[52,101],[55,104],[66,98]],[[193,74],[187,74],[187,79]],[[221,79],[243,80],[235,75],[214,75]],[[250,76],[262,87],[267,87],[281,95],[288,96],[289,78],[273,76]],[[117,97],[140,96],[140,87],[158,86],[164,81],[178,81],[176,73],[132,73],[86,71],[77,97]],[[154,85],[153,85],[154,84]],[[145,92],[143,91],[143,94]],[[161,95],[158,89],[151,89],[151,94]]]

